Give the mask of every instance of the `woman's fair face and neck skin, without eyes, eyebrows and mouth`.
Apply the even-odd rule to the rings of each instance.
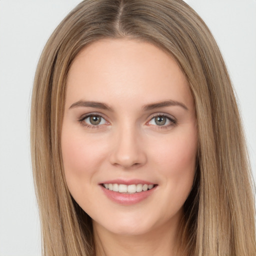
[[[79,106],[78,101],[99,106]],[[173,100],[181,105],[147,104]],[[86,114],[101,115],[92,125]],[[167,115],[164,125],[155,116]],[[68,189],[92,218],[98,255],[170,255],[182,205],[194,179],[197,130],[193,97],[173,58],[129,39],[83,48],[68,73],[61,131]],[[143,179],[157,184],[144,200],[122,205],[99,183]]]

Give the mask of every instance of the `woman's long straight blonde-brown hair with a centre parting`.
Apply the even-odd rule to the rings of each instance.
[[[194,185],[184,204],[185,255],[256,255],[255,210],[244,135],[231,82],[209,29],[182,0],[85,0],[41,54],[31,104],[31,154],[44,256],[95,254],[90,217],[63,174],[60,131],[68,69],[100,38],[150,42],[176,60],[190,85],[198,125]]]

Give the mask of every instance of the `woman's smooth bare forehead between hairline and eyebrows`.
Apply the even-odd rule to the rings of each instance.
[[[168,99],[193,101],[175,60],[148,42],[93,42],[78,53],[68,73],[66,100],[70,104],[74,100],[147,104]]]

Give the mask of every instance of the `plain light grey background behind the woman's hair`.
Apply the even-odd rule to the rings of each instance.
[[[29,155],[35,66],[48,36],[80,0],[0,0],[0,256],[40,255]],[[226,61],[256,177],[256,0],[186,0]]]

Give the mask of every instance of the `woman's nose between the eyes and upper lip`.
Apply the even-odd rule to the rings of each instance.
[[[146,163],[146,153],[139,132],[134,127],[120,127],[113,137],[110,162],[128,169]]]

